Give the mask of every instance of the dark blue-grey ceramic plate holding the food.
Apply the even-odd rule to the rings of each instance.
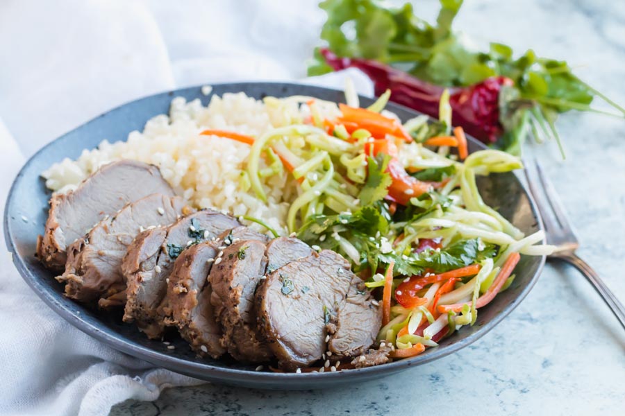
[[[224,92],[245,92],[255,98],[303,94],[329,101],[344,101],[342,92],[295,84],[236,83],[213,86],[213,94],[221,95]],[[83,148],[94,148],[103,139],[125,140],[128,132],[142,130],[144,123],[151,117],[167,113],[174,96],[183,96],[187,100],[199,98],[205,105],[210,99],[210,96],[201,94],[200,87],[178,89],[142,98],[102,114],[59,137],[31,157],[15,178],[8,196],[4,213],[5,238],[17,270],[52,311],[101,342],[154,365],[208,381],[266,389],[329,388],[342,383],[353,384],[388,376],[466,347],[515,309],[535,284],[544,264],[544,257],[524,256],[515,270],[517,277],[512,286],[480,310],[473,327],[463,327],[453,336],[442,340],[439,347],[427,349],[424,354],[414,358],[377,367],[308,374],[256,372],[256,366],[200,359],[178,337],[171,340],[176,348],[167,349],[163,343],[148,340],[135,327],[122,323],[119,316],[101,313],[67,299],[63,296],[63,286],[58,284],[54,275],[43,268],[33,255],[37,236],[44,229],[50,198],[40,173],[65,157],[75,159]],[[369,98],[360,99],[365,105],[372,103]],[[417,115],[398,105],[389,105],[388,108],[404,121]],[[474,139],[469,141],[471,150],[482,148]],[[481,180],[479,185],[485,202],[497,207],[503,216],[512,220],[523,232],[529,234],[540,229],[540,219],[533,202],[515,175],[492,175]]]

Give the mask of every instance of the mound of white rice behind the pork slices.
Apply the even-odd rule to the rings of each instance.
[[[267,193],[267,202],[263,202],[251,189],[244,189],[240,180],[246,171],[250,146],[199,134],[206,129],[221,129],[258,136],[274,128],[275,119],[262,101],[244,93],[213,96],[206,107],[199,100],[187,103],[178,97],[172,101],[169,116],[162,114],[149,120],[143,132],[131,132],[127,141],[113,144],[103,140],[98,148],[83,150],[75,161],[64,159],[53,164],[42,176],[49,189],[65,193],[103,164],[139,160],[158,166],[174,191],[195,207],[258,218],[279,234],[286,234],[288,198],[296,192],[288,175],[263,179]],[[253,227],[265,231],[258,225]]]

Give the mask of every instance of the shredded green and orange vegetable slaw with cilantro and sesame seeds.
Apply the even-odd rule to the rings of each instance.
[[[476,177],[522,163],[499,150],[469,155],[462,128],[451,127],[447,92],[438,121],[401,123],[384,110],[389,97],[361,108],[349,85],[347,104],[266,97],[275,116],[265,134],[203,134],[251,146],[240,186],[260,200],[263,177],[294,181],[289,232],[351,261],[381,303],[378,341],[391,346],[390,357],[407,358],[474,324],[478,309],[512,284],[521,255],[553,248],[540,244],[542,232],[525,236],[485,204]]]

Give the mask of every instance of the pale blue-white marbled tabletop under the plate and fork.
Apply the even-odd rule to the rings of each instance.
[[[433,1],[415,8],[431,15]],[[625,103],[625,2],[467,1],[458,28],[480,42],[563,58]],[[567,160],[533,146],[568,207],[579,254],[625,300],[625,121],[566,114]],[[112,415],[625,414],[625,332],[569,266],[548,264],[526,300],[467,349],[374,383],[339,390],[265,392],[207,384],[129,401]]]

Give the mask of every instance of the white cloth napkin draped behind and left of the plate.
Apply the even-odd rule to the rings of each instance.
[[[115,105],[188,85],[301,79],[323,19],[316,3],[0,2],[2,211],[28,155]],[[349,76],[372,95],[362,73]],[[342,88],[344,78],[306,82]],[[120,401],[201,383],[78,331],[31,292],[6,253],[2,238],[0,415],[107,415]]]

